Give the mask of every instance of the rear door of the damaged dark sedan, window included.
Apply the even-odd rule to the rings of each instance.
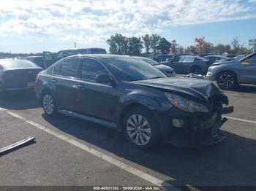
[[[53,68],[51,83],[56,89],[59,109],[75,111],[76,79],[80,58],[67,58]]]

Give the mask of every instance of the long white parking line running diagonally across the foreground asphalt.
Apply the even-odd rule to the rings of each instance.
[[[107,161],[108,163],[111,163],[113,165],[116,165],[118,168],[123,169],[124,171],[129,172],[130,174],[133,174],[135,176],[138,176],[140,179],[144,179],[147,182],[151,182],[151,184],[155,184],[159,187],[167,187],[168,190],[179,190],[178,188],[174,187],[172,184],[169,184],[167,182],[162,181],[161,179],[157,179],[154,176],[151,176],[150,174],[146,174],[143,171],[140,171],[136,168],[133,168],[130,165],[127,165],[125,163],[122,163],[119,160],[116,160],[113,157],[110,157],[108,155],[105,155],[102,152],[97,151],[96,149],[90,148],[88,146],[86,146],[85,144],[81,144],[78,141],[75,141],[74,139],[69,138],[68,136],[64,136],[61,133],[57,133],[54,130],[50,130],[49,128],[46,128],[43,125],[39,125],[37,122],[31,121],[31,120],[27,120],[25,117],[20,116],[19,114],[15,114],[14,112],[10,112],[6,109],[3,109],[0,107],[0,111],[4,111],[7,112],[7,114],[10,114],[12,117],[16,117],[19,120],[23,120],[24,122],[28,123],[29,125],[33,125],[35,128],[38,128],[40,130],[45,131],[46,133],[51,134],[52,136],[56,136],[57,138],[66,141],[69,144],[72,144],[75,147],[78,147],[80,149],[83,149],[86,152],[91,153],[92,155],[101,158],[102,160]],[[169,180],[174,181],[176,179],[170,178]]]

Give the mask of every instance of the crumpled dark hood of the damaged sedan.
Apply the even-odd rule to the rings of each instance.
[[[222,99],[223,104],[228,104],[227,96],[213,82],[203,79],[170,78],[146,79],[132,82],[136,85],[144,85],[165,90],[170,93],[187,95],[200,101],[209,101],[216,96]]]

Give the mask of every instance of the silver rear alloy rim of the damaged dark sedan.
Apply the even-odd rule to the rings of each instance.
[[[53,95],[48,92],[42,94],[42,108],[49,117],[56,115],[56,102],[54,101]]]

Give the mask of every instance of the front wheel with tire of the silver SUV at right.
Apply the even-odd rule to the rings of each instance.
[[[223,71],[217,75],[217,84],[221,89],[231,90],[237,87],[236,74],[230,71]]]

